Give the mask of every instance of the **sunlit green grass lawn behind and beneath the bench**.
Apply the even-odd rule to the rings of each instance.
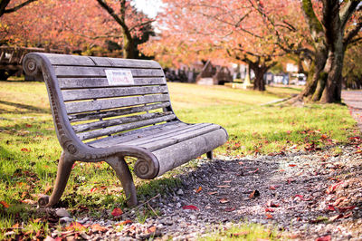
[[[347,142],[357,131],[342,105],[261,105],[299,92],[296,89],[268,88],[260,93],[169,83],[169,91],[181,120],[217,123],[229,132],[229,141],[215,150],[216,156],[318,149]],[[32,204],[39,194],[51,193],[61,147],[44,84],[0,82],[0,113],[0,234],[21,222],[30,229],[46,230],[46,223],[34,221],[44,215]],[[138,198],[142,201],[177,186],[176,172],[151,181],[137,179]],[[105,163],[77,163],[61,202],[75,213],[85,206],[95,217],[101,209],[124,205],[120,182]]]

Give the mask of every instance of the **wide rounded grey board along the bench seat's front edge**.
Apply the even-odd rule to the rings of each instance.
[[[165,149],[157,149],[152,152],[159,162],[157,176],[161,176],[168,170],[175,169],[190,159],[200,157],[205,152],[223,145],[226,140],[225,130],[218,129],[193,139],[176,143]]]

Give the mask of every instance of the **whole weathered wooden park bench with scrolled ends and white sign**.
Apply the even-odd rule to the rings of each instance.
[[[137,204],[125,157],[136,158],[138,178],[156,178],[223,145],[219,125],[187,124],[171,107],[167,82],[154,61],[28,53],[24,72],[46,83],[62,155],[51,197],[61,198],[75,161],[106,161],[116,171],[127,197]],[[202,93],[200,93],[202,94]]]

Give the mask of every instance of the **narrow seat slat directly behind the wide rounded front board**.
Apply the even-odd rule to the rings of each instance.
[[[166,139],[151,141],[151,142],[148,142],[145,144],[137,144],[137,145],[139,147],[148,149],[149,151],[155,151],[157,149],[163,149],[168,146],[174,145],[178,142],[181,142],[184,140],[189,140],[189,139],[195,138],[197,136],[200,136],[200,135],[203,135],[203,134],[206,134],[211,131],[218,130],[218,129],[220,129],[220,126],[218,126],[218,125],[209,125],[209,126],[206,126],[205,128],[187,131],[186,133],[182,133],[179,135],[170,135]]]

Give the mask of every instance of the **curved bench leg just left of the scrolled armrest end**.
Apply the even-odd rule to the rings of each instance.
[[[135,184],[133,183],[132,174],[129,166],[123,157],[112,157],[106,160],[110,167],[116,171],[116,175],[122,184],[127,198],[127,206],[133,207],[137,205],[137,195]]]

